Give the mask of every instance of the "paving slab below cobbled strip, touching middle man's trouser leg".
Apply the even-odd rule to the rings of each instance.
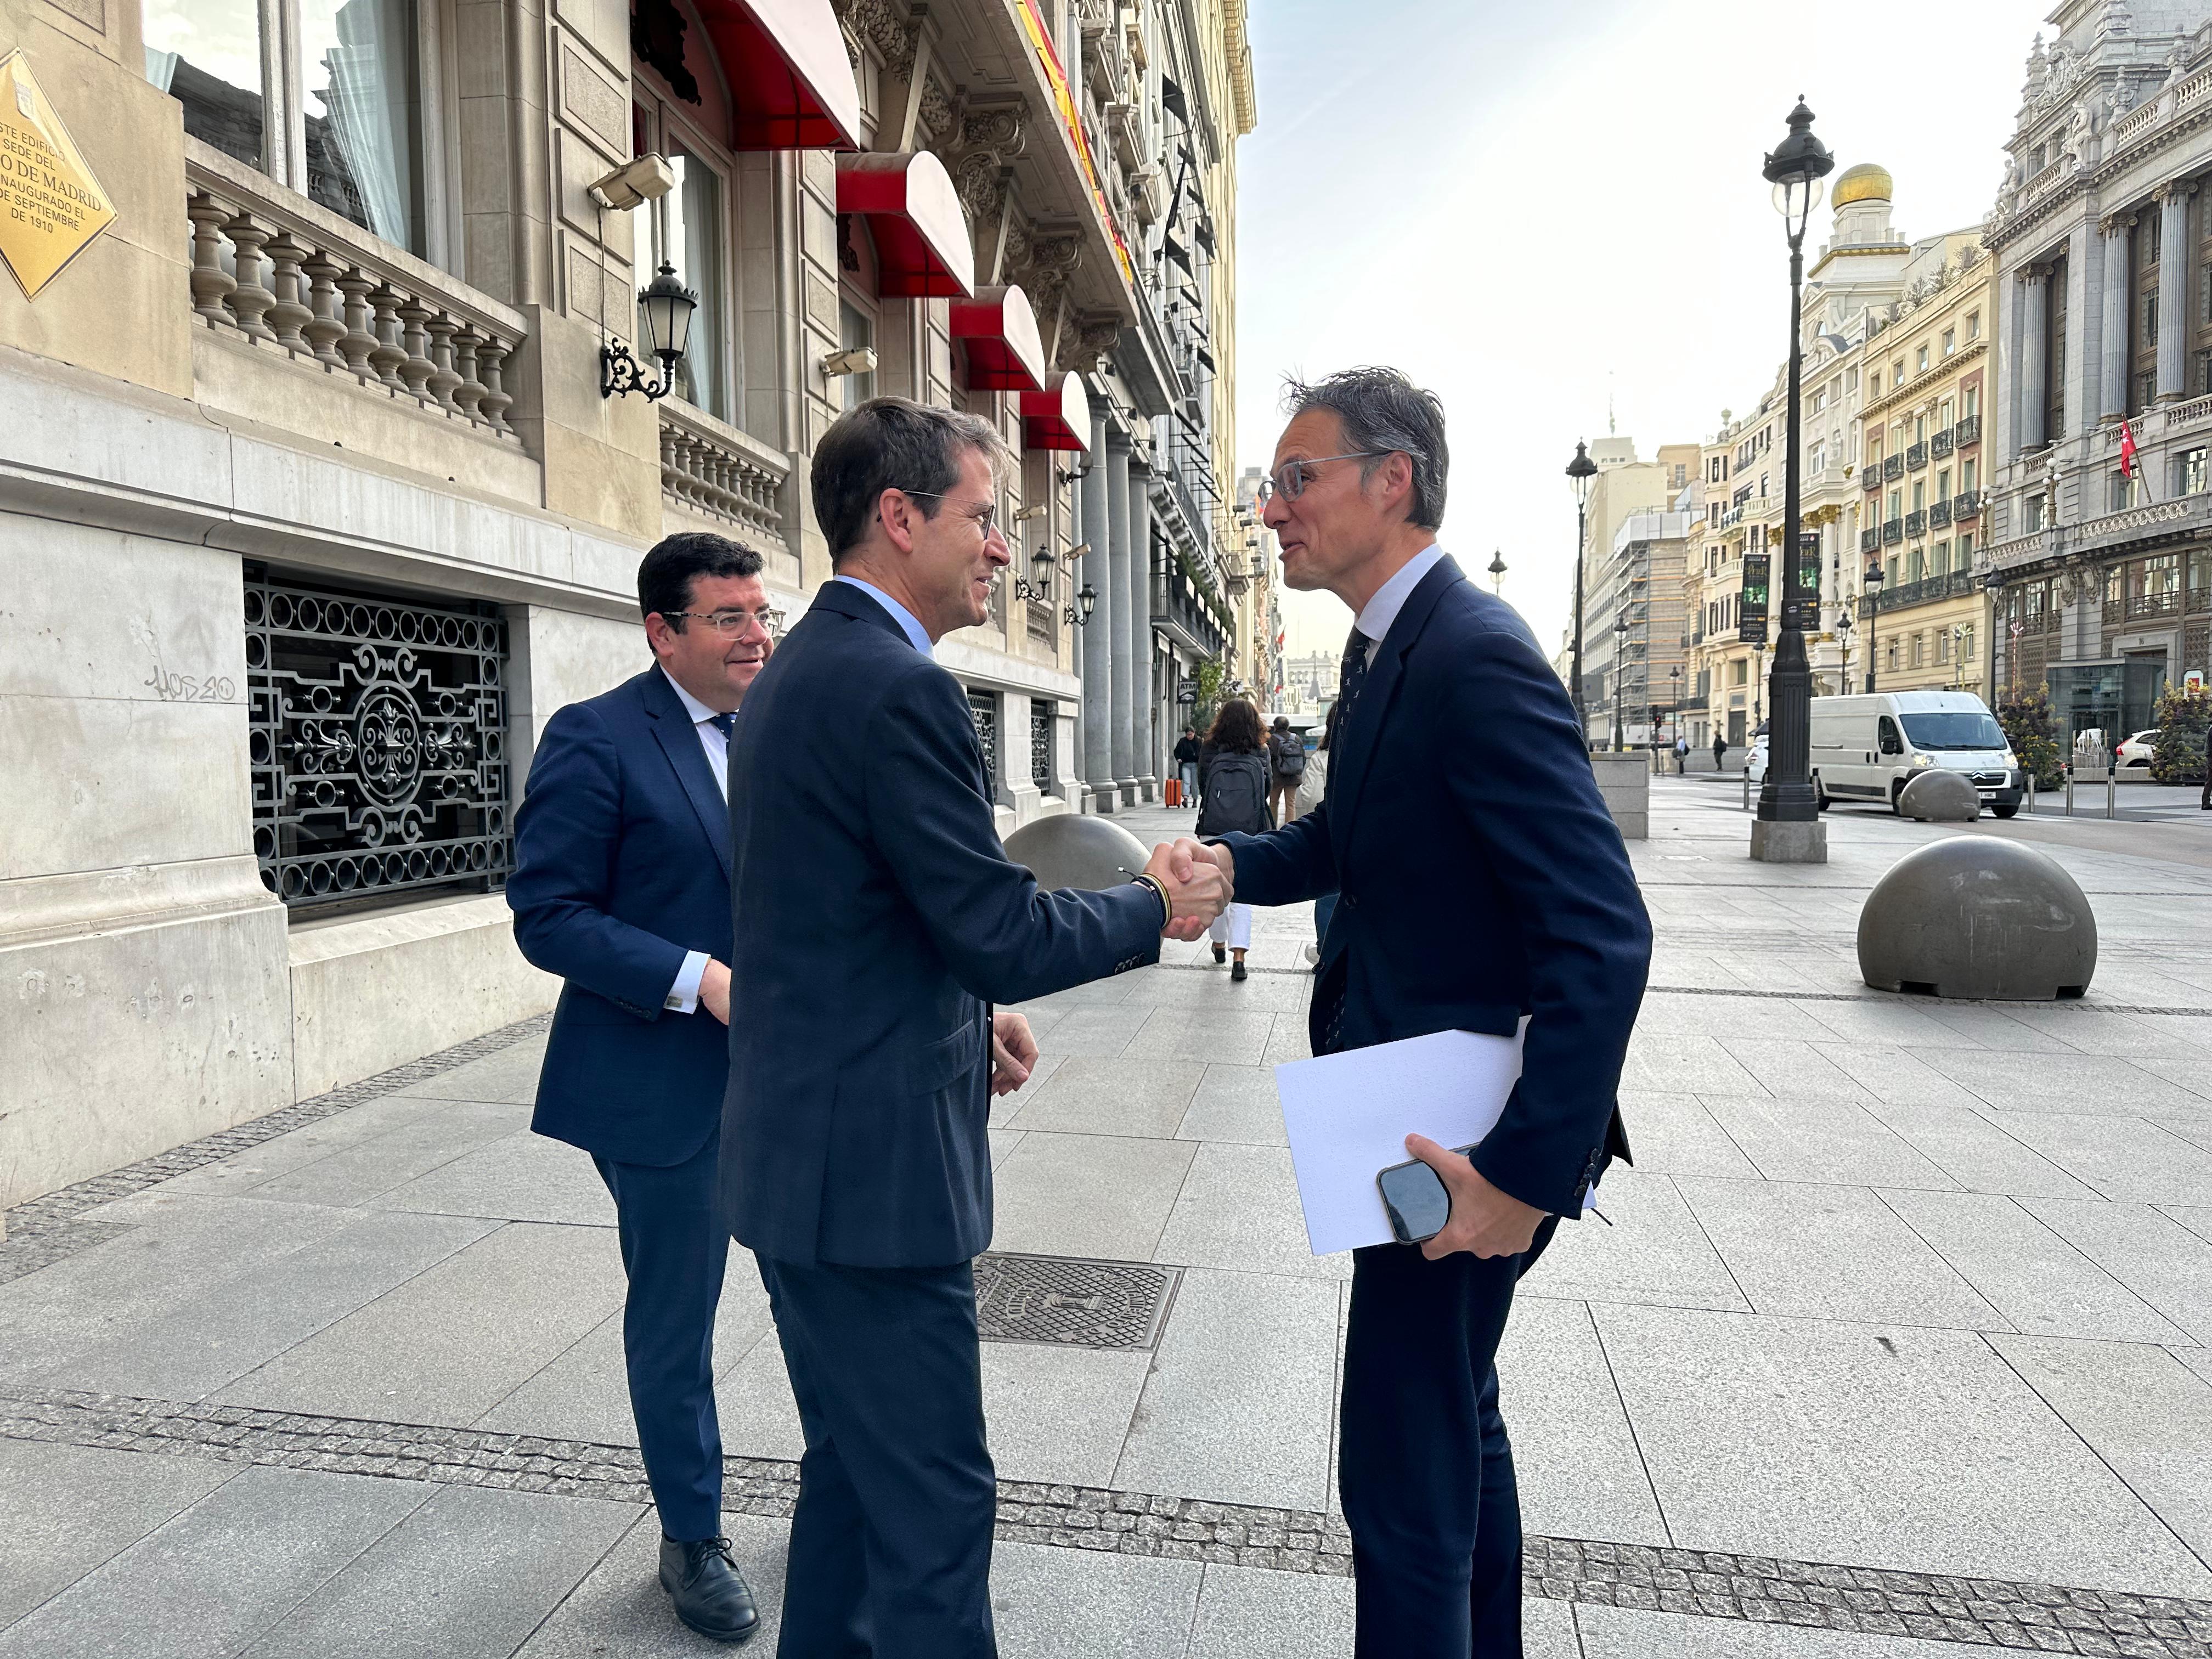
[[[1181,1659],[1197,1604],[1197,1562],[1048,1544],[991,1551],[1004,1659]]]

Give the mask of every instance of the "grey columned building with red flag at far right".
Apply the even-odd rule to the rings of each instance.
[[[2051,24],[1984,223],[1989,688],[2048,686],[2062,737],[2119,734],[2212,668],[2212,7],[2070,0]]]

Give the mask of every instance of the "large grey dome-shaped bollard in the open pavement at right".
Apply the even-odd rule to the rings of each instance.
[[[2097,916],[2053,858],[1995,836],[1918,847],[1858,911],[1858,973],[1876,991],[2051,1002],[2088,991]]]

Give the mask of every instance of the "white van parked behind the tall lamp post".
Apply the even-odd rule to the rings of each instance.
[[[1964,772],[2000,818],[2020,812],[2026,774],[2004,728],[1973,692],[1867,692],[1812,699],[1812,792],[1896,810],[1913,772]]]

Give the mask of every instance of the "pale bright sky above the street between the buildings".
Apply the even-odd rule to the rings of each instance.
[[[1265,467],[1285,374],[1391,363],[1444,400],[1442,544],[1551,653],[1568,622],[1577,438],[1650,460],[1772,385],[1790,250],[1765,153],[1798,95],[1836,170],[1880,161],[1907,239],[1978,226],[2055,0],[1250,0],[1239,146],[1237,451]],[[1805,237],[1827,239],[1827,204]],[[1486,580],[1486,577],[1484,577]],[[1287,650],[1343,650],[1285,593]]]

